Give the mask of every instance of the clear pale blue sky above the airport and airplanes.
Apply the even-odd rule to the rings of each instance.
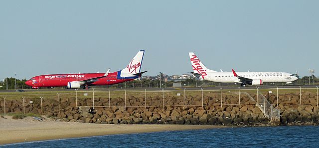
[[[0,79],[117,71],[319,70],[318,0],[2,0]]]

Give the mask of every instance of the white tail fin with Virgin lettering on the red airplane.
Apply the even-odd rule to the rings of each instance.
[[[140,50],[135,57],[130,61],[126,68],[122,69],[121,77],[135,76],[134,74],[141,71],[144,50]]]

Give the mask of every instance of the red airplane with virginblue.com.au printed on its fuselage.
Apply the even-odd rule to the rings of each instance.
[[[140,72],[144,50],[140,50],[129,65],[120,71],[109,73],[51,74],[32,77],[25,84],[34,89],[39,87],[87,88],[93,85],[112,85],[134,80],[142,76]]]

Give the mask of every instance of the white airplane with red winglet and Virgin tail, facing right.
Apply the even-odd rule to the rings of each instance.
[[[297,74],[290,74],[286,72],[217,72],[207,69],[199,58],[193,53],[189,52],[189,58],[193,67],[191,72],[200,80],[207,80],[219,83],[241,83],[241,86],[249,85],[263,85],[265,82],[286,82],[292,83],[299,78]]]

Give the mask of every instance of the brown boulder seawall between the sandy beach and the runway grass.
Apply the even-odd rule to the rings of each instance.
[[[308,92],[303,94],[305,94],[303,104],[300,104],[298,93],[280,95],[278,106],[277,96],[269,96],[269,102],[281,110],[281,125],[318,124],[319,109],[316,94]],[[256,102],[245,95],[241,96],[240,105],[236,95],[224,95],[222,100],[217,94],[205,96],[203,100],[198,95],[188,95],[186,100],[167,96],[164,107],[161,106],[163,103],[161,96],[148,99],[148,107],[143,107],[145,98],[129,96],[125,108],[123,98],[111,100],[111,104],[117,107],[105,107],[109,106],[109,100],[96,98],[93,110],[92,107],[86,107],[92,103],[90,98],[78,100],[77,103],[74,99],[61,98],[60,113],[58,113],[57,100],[43,100],[41,110],[39,99],[26,99],[24,112],[34,114],[43,112],[60,121],[96,124],[271,125],[270,119],[255,105]],[[6,100],[5,106],[6,113],[23,113],[21,99]],[[0,113],[4,113],[3,100],[0,101]]]

